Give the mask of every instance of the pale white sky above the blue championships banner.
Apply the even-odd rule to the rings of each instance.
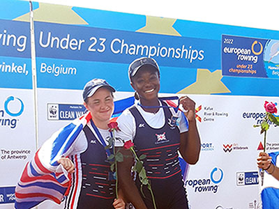
[[[278,0],[38,0],[38,2],[279,31]]]

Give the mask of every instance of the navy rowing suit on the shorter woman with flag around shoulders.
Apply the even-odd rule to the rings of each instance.
[[[80,154],[82,162],[82,189],[78,209],[110,209],[115,198],[115,180],[110,179],[107,153],[88,126],[84,127],[88,147]]]

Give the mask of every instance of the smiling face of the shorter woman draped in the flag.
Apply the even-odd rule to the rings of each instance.
[[[112,91],[105,87],[99,88],[90,98],[87,98],[84,106],[91,112],[95,125],[107,129],[107,123],[114,111]]]

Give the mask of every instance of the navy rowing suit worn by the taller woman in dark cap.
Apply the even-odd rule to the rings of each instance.
[[[165,102],[163,105],[167,106]],[[130,109],[135,118],[136,132],[133,142],[137,156],[146,155],[144,168],[151,181],[151,188],[156,199],[158,209],[187,209],[188,200],[182,180],[179,164],[178,150],[180,146],[180,133],[176,125],[168,123],[172,117],[168,108],[163,108],[165,125],[153,128],[146,123],[140,111],[135,106]],[[141,191],[140,180],[136,179],[136,185]],[[143,187],[142,199],[147,208],[153,209],[151,193],[147,187]]]

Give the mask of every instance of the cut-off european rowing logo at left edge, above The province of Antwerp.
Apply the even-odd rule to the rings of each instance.
[[[4,102],[4,109],[0,109],[0,126],[14,129],[17,127],[17,121],[19,121],[16,117],[22,115],[23,111],[24,103],[22,100],[14,96],[9,96]],[[8,114],[8,118],[6,114]]]

